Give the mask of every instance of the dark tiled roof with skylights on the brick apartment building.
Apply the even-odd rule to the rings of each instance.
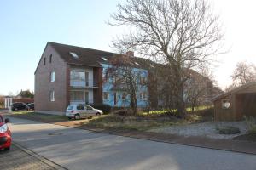
[[[68,64],[73,65],[89,65],[94,67],[102,67],[102,64],[109,64],[109,61],[113,57],[118,57],[119,54],[106,52],[97,49],[91,48],[81,48],[72,45],[66,45],[55,42],[48,42],[50,46],[55,48],[55,51],[60,54],[61,58],[64,59]],[[74,58],[70,52],[73,52],[79,56],[79,58]],[[107,61],[103,60],[102,57],[108,59]],[[137,68],[147,69],[150,68],[150,64],[154,65],[154,62],[149,59],[143,59],[138,57],[131,57],[133,61],[133,66]],[[139,65],[136,65],[137,62]]]

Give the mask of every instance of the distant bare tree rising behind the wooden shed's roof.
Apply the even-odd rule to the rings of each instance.
[[[239,62],[232,74],[233,87],[241,86],[247,82],[256,81],[256,66],[252,63]],[[232,85],[231,85],[232,86]]]

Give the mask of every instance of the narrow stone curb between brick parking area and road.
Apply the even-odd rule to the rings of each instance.
[[[66,167],[62,167],[61,165],[55,163],[54,161],[50,161],[49,159],[47,159],[44,156],[40,156],[38,155],[36,152],[32,151],[32,150],[28,150],[26,147],[21,146],[20,144],[12,141],[12,144],[14,144],[16,147],[18,147],[20,150],[26,152],[26,154],[33,156],[35,158],[37,158],[39,161],[44,162],[45,164],[47,164],[49,167],[53,167],[56,170],[68,170]]]

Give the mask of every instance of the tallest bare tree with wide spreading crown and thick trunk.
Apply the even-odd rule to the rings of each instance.
[[[177,112],[185,116],[187,72],[212,61],[222,45],[218,16],[204,0],[126,0],[117,7],[110,24],[130,26],[131,32],[113,40],[113,46],[133,48],[167,65]]]

